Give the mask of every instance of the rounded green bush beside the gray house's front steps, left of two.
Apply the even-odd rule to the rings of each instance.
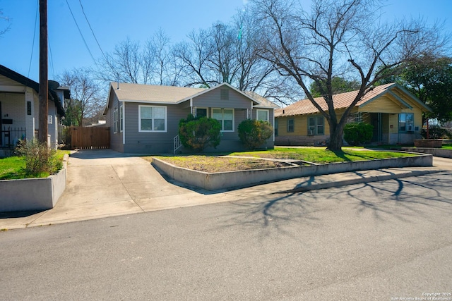
[[[214,118],[195,118],[190,114],[179,121],[179,139],[184,147],[196,152],[217,147],[221,140],[221,124]]]

